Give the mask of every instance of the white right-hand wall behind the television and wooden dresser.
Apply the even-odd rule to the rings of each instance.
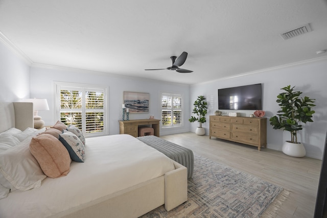
[[[218,110],[218,89],[234,86],[250,85],[262,83],[263,88],[263,110],[267,117],[267,148],[282,150],[283,141],[290,140],[290,133],[282,130],[274,130],[270,125],[269,118],[276,115],[279,110],[276,103],[276,96],[283,92],[281,88],[291,85],[296,86],[304,95],[316,99],[316,107],[313,110],[314,123],[304,125],[302,131],[299,131],[298,140],[301,141],[307,151],[308,157],[322,159],[324,142],[327,132],[327,61],[326,59],[317,59],[289,66],[279,67],[266,71],[256,72],[236,78],[217,80],[191,86],[191,111],[193,102],[198,95],[204,95],[208,102],[208,115],[214,115]],[[231,112],[232,110],[225,110]],[[254,111],[244,110],[242,116],[249,116]],[[209,116],[207,116],[207,120]],[[195,131],[197,124],[191,125],[191,131]],[[206,134],[209,134],[209,122],[203,127],[206,128]]]

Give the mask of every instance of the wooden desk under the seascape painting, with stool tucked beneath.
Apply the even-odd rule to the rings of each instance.
[[[119,134],[129,134],[131,136],[138,136],[138,126],[151,125],[154,130],[155,136],[159,134],[160,119],[132,119],[132,120],[119,120]]]

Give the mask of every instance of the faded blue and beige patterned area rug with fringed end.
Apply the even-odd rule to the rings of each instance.
[[[275,217],[288,193],[260,178],[194,155],[188,201],[169,212],[160,206],[141,217]]]

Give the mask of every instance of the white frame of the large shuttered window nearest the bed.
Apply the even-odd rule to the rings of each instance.
[[[82,121],[81,121],[81,131],[85,135],[85,137],[92,137],[92,136],[102,136],[102,135],[108,135],[108,111],[107,111],[107,96],[108,96],[108,87],[107,86],[101,86],[101,85],[92,85],[92,84],[83,84],[83,83],[69,83],[69,82],[54,82],[54,95],[55,95],[55,120],[60,120],[61,116],[61,108],[60,108],[60,99],[61,99],[61,90],[80,90],[82,91],[82,95],[85,95],[86,91],[103,91],[103,131],[101,132],[92,132],[92,133],[86,133],[86,113],[88,111],[92,111],[96,109],[87,109],[85,105],[85,100],[82,100]],[[74,111],[74,109],[73,109]],[[102,111],[102,109],[101,109]]]

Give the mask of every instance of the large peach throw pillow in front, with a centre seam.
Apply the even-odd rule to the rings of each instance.
[[[46,176],[58,178],[69,173],[71,157],[67,149],[55,136],[40,134],[33,137],[30,143],[30,151]]]

